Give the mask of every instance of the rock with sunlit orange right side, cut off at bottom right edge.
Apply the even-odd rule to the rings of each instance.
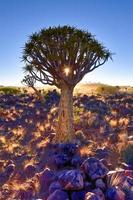
[[[125,193],[120,190],[117,186],[110,187],[106,192],[106,198],[108,200],[126,200]]]

